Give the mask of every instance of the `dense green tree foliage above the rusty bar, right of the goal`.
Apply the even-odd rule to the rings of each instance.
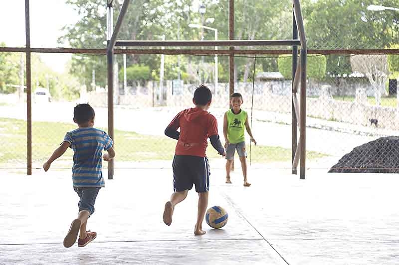
[[[384,5],[396,6],[396,0]],[[306,0],[303,3],[309,49],[384,48],[398,43],[398,14],[367,10],[373,0]]]

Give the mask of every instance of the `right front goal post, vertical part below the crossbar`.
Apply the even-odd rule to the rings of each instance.
[[[300,161],[299,161],[299,178],[305,179],[306,174],[306,65],[307,65],[306,49],[301,49],[301,111],[300,111]]]

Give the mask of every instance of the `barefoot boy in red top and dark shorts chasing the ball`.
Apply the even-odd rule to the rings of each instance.
[[[173,188],[170,201],[165,204],[164,222],[171,225],[173,210],[182,202],[193,184],[199,194],[197,223],[194,234],[205,234],[202,221],[208,205],[209,164],[205,151],[207,138],[213,148],[225,156],[223,146],[217,134],[216,118],[207,112],[212,101],[212,93],[205,85],[200,85],[195,92],[193,103],[195,108],[185,109],[176,115],[165,130],[165,134],[178,140],[173,159]],[[180,132],[177,129],[180,128]]]

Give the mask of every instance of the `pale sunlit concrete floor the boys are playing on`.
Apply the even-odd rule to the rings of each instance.
[[[212,164],[210,164],[212,166]],[[116,170],[96,201],[95,241],[66,249],[77,214],[70,171],[1,174],[0,264],[399,264],[399,178],[390,174],[250,170],[252,186],[212,170],[209,207],[228,214],[223,229],[194,236],[197,194],[162,222],[170,169]]]

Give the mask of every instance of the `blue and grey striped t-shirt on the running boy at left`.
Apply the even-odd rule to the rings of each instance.
[[[104,187],[102,151],[112,147],[108,134],[93,127],[78,128],[66,133],[64,142],[73,149],[73,185]]]

